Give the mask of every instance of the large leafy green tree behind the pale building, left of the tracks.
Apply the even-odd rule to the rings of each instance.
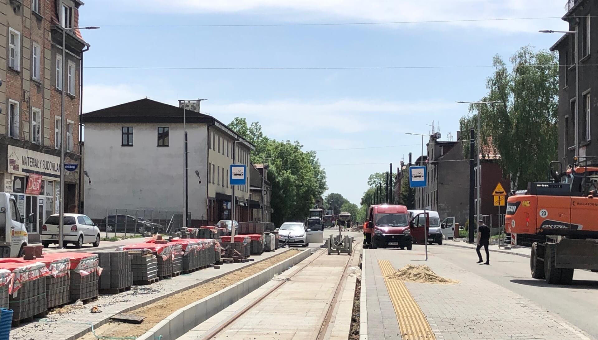
[[[298,141],[269,139],[262,132],[260,123],[253,122],[248,126],[244,118],[236,117],[229,127],[255,145],[252,162],[262,163],[265,158],[270,158],[268,179],[272,185],[272,221],[279,225],[306,218],[316,198],[328,189],[326,171],[315,151],[303,151],[303,145]]]

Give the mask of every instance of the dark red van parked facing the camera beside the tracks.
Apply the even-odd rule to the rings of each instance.
[[[364,245],[370,248],[407,248],[412,246],[411,229],[404,205],[372,205],[364,224]]]

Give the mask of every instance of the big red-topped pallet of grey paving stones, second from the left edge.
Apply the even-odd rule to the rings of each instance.
[[[6,286],[8,309],[13,311],[14,326],[19,326],[21,321],[45,317],[48,313],[45,297],[45,277],[49,274],[48,269],[44,263],[35,260],[17,262],[19,260],[0,260],[0,269],[11,273],[10,282]]]

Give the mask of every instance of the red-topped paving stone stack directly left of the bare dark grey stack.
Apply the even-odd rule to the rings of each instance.
[[[71,300],[89,302],[100,295],[99,277],[97,267],[99,257],[97,254],[88,254],[84,259],[71,269]],[[73,260],[71,259],[71,268]],[[100,267],[101,268],[101,267]]]

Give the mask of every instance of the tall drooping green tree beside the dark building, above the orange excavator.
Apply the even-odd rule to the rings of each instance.
[[[492,145],[501,155],[511,189],[524,189],[529,181],[547,180],[548,165],[557,159],[559,62],[549,51],[521,48],[510,58],[511,71],[495,56],[495,72],[486,80],[488,93],[480,101],[498,104],[471,105],[472,116],[460,120],[460,130],[477,129],[483,145]],[[477,131],[476,131],[477,133]],[[469,145],[463,145],[469,155]],[[487,155],[482,154],[482,157]]]

